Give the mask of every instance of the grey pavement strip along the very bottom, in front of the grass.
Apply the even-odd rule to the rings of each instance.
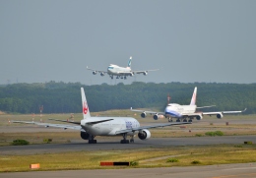
[[[43,177],[94,177],[94,178],[242,178],[256,177],[255,163],[222,164],[189,167],[160,167],[160,168],[136,168],[136,169],[96,169],[96,170],[64,170],[64,171],[35,171],[1,173],[6,178],[43,178]]]

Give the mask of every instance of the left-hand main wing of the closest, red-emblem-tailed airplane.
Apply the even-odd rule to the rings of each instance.
[[[29,121],[11,121],[12,123],[24,123],[24,124],[34,124],[38,126],[44,127],[56,127],[62,129],[74,129],[79,131],[84,131],[81,126],[73,126],[73,125],[64,125],[64,124],[50,124],[50,123],[41,123],[41,122],[29,122]]]

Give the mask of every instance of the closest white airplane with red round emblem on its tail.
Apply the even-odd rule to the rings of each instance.
[[[146,140],[151,137],[151,133],[148,129],[158,128],[172,125],[190,124],[188,122],[178,123],[165,123],[152,126],[140,126],[140,123],[132,117],[91,117],[86,94],[83,88],[81,88],[82,106],[83,106],[83,119],[81,122],[72,122],[64,120],[50,119],[54,121],[68,122],[73,125],[62,124],[50,124],[40,122],[27,122],[27,121],[12,121],[13,123],[27,123],[36,124],[45,127],[57,127],[63,129],[74,129],[81,132],[81,138],[88,140],[89,144],[96,144],[96,136],[122,136],[121,144],[129,144],[127,136],[131,136],[131,143],[134,143],[134,136],[138,134],[139,139]]]

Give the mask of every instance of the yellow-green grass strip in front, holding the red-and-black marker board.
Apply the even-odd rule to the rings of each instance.
[[[178,161],[167,162],[169,157]],[[197,165],[256,162],[256,147],[221,145],[0,155],[0,172],[30,171],[32,163],[40,164],[38,170],[77,170],[120,168],[101,167],[100,161],[136,161],[136,167],[169,167],[191,166],[195,160]]]

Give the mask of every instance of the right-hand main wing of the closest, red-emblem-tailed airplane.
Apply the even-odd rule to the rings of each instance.
[[[158,127],[166,127],[166,126],[175,126],[175,125],[184,125],[184,124],[191,124],[190,122],[173,122],[173,123],[166,123],[166,124],[156,124],[152,126],[142,126],[137,128],[125,129],[121,131],[116,131],[116,134],[125,134],[129,132],[141,131],[143,129],[151,129],[151,128],[158,128]]]

